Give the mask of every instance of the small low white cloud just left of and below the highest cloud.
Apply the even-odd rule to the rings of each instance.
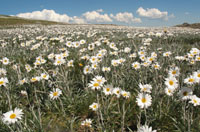
[[[132,13],[124,12],[124,13],[117,13],[115,16],[113,14],[110,14],[111,18],[115,19],[119,22],[125,22],[125,23],[141,23],[140,18],[135,18]]]

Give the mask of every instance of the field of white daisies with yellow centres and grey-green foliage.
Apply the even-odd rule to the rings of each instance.
[[[0,132],[199,132],[200,30],[0,27]]]

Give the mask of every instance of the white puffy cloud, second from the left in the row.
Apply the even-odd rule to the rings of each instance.
[[[82,16],[89,23],[91,23],[91,22],[101,23],[101,22],[112,22],[113,21],[109,17],[108,14],[100,14],[100,12],[103,12],[103,10],[100,9],[100,10],[90,11],[90,12],[88,11],[88,12],[84,13]]]

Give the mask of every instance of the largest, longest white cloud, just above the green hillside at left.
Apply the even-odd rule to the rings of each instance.
[[[31,13],[20,13],[18,17],[29,18],[29,19],[40,19],[57,22],[69,22],[72,18],[66,14],[58,14],[54,10],[44,9],[42,11],[33,11]]]

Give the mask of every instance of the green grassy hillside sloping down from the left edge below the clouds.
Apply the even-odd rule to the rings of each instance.
[[[67,24],[46,20],[32,20],[25,19],[15,16],[0,15],[0,26],[4,25],[24,25],[24,24],[42,24],[42,25],[53,25],[53,24]]]

